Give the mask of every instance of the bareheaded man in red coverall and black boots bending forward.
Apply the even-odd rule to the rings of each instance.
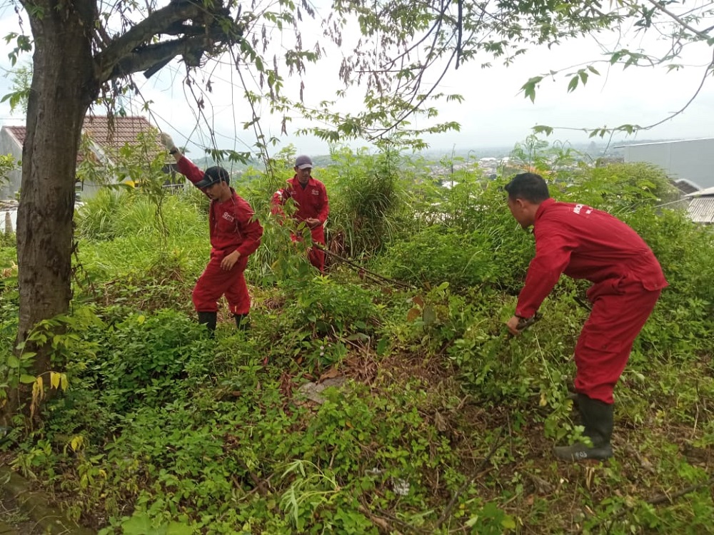
[[[540,175],[521,173],[508,185],[508,208],[523,229],[533,226],[535,258],[518,295],[508,330],[535,315],[561,273],[593,282],[592,311],[575,345],[575,391],[585,427],[584,443],[555,447],[560,459],[608,459],[613,455],[613,389],[635,337],[667,281],[652,250],[628,225],[590,206],[550,198]]]

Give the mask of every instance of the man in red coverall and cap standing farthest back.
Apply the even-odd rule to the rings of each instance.
[[[330,213],[325,185],[311,176],[312,160],[309,156],[298,156],[295,160],[295,176],[288,180],[286,188],[273,194],[272,212],[282,214],[282,205],[288,199],[295,201],[297,210],[293,218],[304,221],[310,228],[313,243],[325,245],[325,222]],[[293,234],[293,241],[300,238]],[[325,270],[325,253],[316,247],[311,247],[308,253],[310,263],[320,272]]]

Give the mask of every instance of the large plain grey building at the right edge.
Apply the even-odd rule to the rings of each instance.
[[[675,183],[686,180],[698,189],[714,187],[714,138],[658,141],[619,146],[626,163],[657,165]],[[680,188],[681,189],[681,188]]]

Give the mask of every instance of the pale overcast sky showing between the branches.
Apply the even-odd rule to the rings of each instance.
[[[0,36],[16,30],[17,17],[7,7],[0,9]],[[710,26],[710,24],[702,24]],[[28,26],[25,26],[28,28]],[[306,33],[303,32],[303,35]],[[317,39],[318,32],[314,32]],[[284,36],[273,36],[280,41]],[[289,38],[285,37],[289,46]],[[617,39],[617,36],[602,36],[601,41]],[[652,51],[657,44],[638,41],[635,35],[630,48],[645,47]],[[309,38],[304,39],[306,46]],[[276,41],[276,42],[277,42]],[[582,129],[618,126],[630,123],[647,126],[663,120],[673,111],[683,108],[695,93],[703,76],[703,66],[712,58],[712,49],[703,45],[685,54],[683,63],[688,66],[680,71],[667,73],[665,68],[608,68],[605,63],[597,66],[601,76],[590,76],[587,85],[568,93],[568,78],[559,76],[554,80],[546,78],[538,88],[535,102],[524,98],[521,86],[528,78],[569,66],[582,66],[588,59],[602,58],[598,46],[589,39],[571,41],[566,46],[553,50],[535,49],[521,56],[508,68],[493,66],[479,68],[478,64],[466,63],[458,71],[450,71],[443,79],[440,89],[447,93],[460,93],[463,103],[442,103],[438,105],[440,121],[457,121],[461,131],[428,136],[429,146],[436,151],[448,153],[451,150],[469,150],[496,146],[513,146],[524,141],[535,125],[556,127],[548,141],[561,143],[585,143],[588,136]],[[28,56],[29,59],[29,56]],[[325,98],[334,98],[340,87],[338,65],[340,51],[328,51],[328,58],[316,65],[308,66],[308,74],[299,80],[286,78],[286,93],[296,96],[299,84],[304,83],[307,103]],[[478,62],[480,63],[480,62]],[[493,61],[494,65],[496,64]],[[9,61],[0,57],[1,72],[9,69]],[[241,97],[239,76],[230,66],[212,68],[211,86],[213,91],[206,95],[203,118],[198,118],[195,100],[183,83],[184,71],[176,60],[162,71],[146,80],[141,73],[135,80],[141,90],[140,96],[126,99],[129,113],[146,115],[142,110],[146,101],[151,101],[149,120],[161,131],[174,136],[179,145],[188,144],[191,156],[203,156],[204,146],[254,151],[255,138],[252,131],[244,131],[243,121],[251,117],[250,108]],[[573,71],[575,69],[571,69]],[[566,71],[569,72],[569,71]],[[246,76],[246,73],[243,73]],[[434,72],[433,76],[438,73]],[[200,78],[200,77],[199,77]],[[198,80],[199,86],[201,80]],[[0,76],[0,94],[9,88],[8,78]],[[353,96],[341,101],[343,110],[355,109],[361,100]],[[96,113],[101,113],[97,111]],[[211,141],[206,128],[206,120],[211,124],[215,140]],[[22,124],[24,118],[11,115],[9,105],[0,103],[0,124]],[[416,121],[414,126],[425,126]],[[281,137],[281,144],[271,149],[292,143],[298,153],[313,156],[328,153],[328,146],[317,138],[297,137],[298,126],[308,126],[306,122],[288,125],[288,136],[280,135],[279,118],[261,114],[261,128],[266,136]],[[618,135],[615,140],[628,141],[652,139],[685,139],[714,137],[714,78],[710,76],[695,101],[680,116],[667,121],[649,131],[635,136]],[[595,138],[595,141],[603,141]],[[605,139],[604,141],[607,141]],[[366,141],[349,143],[351,146],[369,146]]]

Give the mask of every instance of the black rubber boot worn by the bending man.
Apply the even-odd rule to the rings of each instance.
[[[609,459],[613,457],[610,437],[613,436],[613,406],[578,393],[578,409],[583,420],[586,437],[593,442],[592,447],[578,442],[572,446],[556,446],[555,457],[566,461],[585,461],[586,459]]]

